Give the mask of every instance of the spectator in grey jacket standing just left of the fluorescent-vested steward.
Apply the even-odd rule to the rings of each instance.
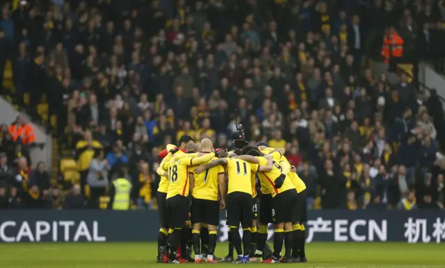
[[[88,208],[99,208],[99,197],[104,195],[108,186],[108,160],[102,150],[96,150],[88,169],[87,182],[90,185]]]

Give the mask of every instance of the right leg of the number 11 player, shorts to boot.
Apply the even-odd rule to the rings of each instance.
[[[250,247],[252,246],[252,234],[250,233],[250,228],[252,228],[252,196],[243,194],[243,201],[240,206],[243,208],[241,217],[241,226],[243,227],[243,260],[244,262],[249,262]]]

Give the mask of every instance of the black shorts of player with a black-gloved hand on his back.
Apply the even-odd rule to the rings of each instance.
[[[292,212],[297,206],[297,190],[290,189],[277,194],[272,200],[272,217],[274,224],[292,222],[295,219]]]

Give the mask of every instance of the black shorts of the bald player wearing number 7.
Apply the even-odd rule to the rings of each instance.
[[[210,224],[218,226],[220,221],[220,202],[206,199],[192,199],[192,224]]]

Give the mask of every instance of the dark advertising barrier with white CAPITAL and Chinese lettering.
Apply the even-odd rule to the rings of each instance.
[[[223,213],[219,241],[227,241]],[[442,210],[309,212],[307,242],[441,242],[445,241]],[[156,241],[156,211],[3,210],[0,242],[140,242]],[[273,230],[270,227],[269,238]]]

